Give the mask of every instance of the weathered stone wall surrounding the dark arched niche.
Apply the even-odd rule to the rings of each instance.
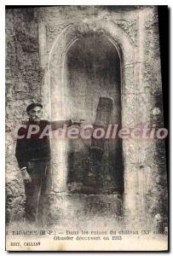
[[[121,62],[120,121],[125,127],[133,128],[146,123],[164,124],[156,7],[66,6],[16,9],[7,11],[6,21],[7,189],[14,189],[14,183],[19,184],[13,195],[7,193],[8,209],[11,211],[9,217],[13,219],[14,212],[18,212],[14,200],[17,198],[20,201],[24,197],[20,172],[14,160],[14,141],[9,135],[12,129],[10,125],[23,117],[26,105],[34,100],[43,102],[45,119],[66,119],[71,118],[71,114],[80,118],[85,113],[81,97],[72,104],[70,112],[66,108],[70,104],[66,102],[66,84],[69,83],[66,78],[71,73],[66,55],[72,51],[72,45],[74,48],[78,46],[77,40],[80,42],[81,38],[93,33],[103,35],[118,51]],[[78,54],[78,49],[75,53]],[[86,82],[86,78],[84,80]],[[94,92],[97,97],[98,91]],[[73,90],[70,91],[71,97],[72,93]],[[105,88],[100,88],[100,93],[103,96]],[[90,109],[92,113],[96,103],[91,96],[85,97],[85,100],[88,100],[89,106],[94,106]],[[61,142],[54,143],[52,148],[53,160],[58,150],[62,150],[60,157],[66,151],[66,146],[62,147]],[[124,141],[123,155],[125,223],[133,226],[136,224],[137,227],[144,223],[150,225],[160,216],[165,226],[167,189],[164,142]],[[56,186],[53,189],[63,192],[66,190],[66,175],[62,175],[64,169],[58,165],[56,160],[53,161]],[[64,160],[62,165],[67,170]],[[71,211],[74,198],[70,200],[72,195],[66,196],[60,195],[63,198],[61,200],[55,195],[53,201],[61,201],[62,205],[66,203],[69,205],[67,210]],[[162,207],[159,201],[163,202]]]

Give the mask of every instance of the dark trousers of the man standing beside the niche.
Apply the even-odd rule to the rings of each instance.
[[[50,173],[49,160],[31,160],[27,172],[32,182],[25,183],[26,221],[42,227],[48,223]]]

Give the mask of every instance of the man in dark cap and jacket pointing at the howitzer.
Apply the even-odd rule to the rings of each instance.
[[[41,120],[43,105],[32,103],[26,108],[29,120],[20,127],[15,148],[25,184],[26,193],[26,221],[30,224],[42,226],[47,222],[49,210],[49,164],[50,143],[49,136],[40,136],[46,125],[51,125],[51,130],[72,125],[72,120],[49,122]],[[80,125],[80,122],[73,123]],[[37,132],[31,132],[34,127]],[[28,136],[29,135],[29,136]]]

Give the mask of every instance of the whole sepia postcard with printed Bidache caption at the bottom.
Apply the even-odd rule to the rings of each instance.
[[[7,251],[168,252],[168,20],[6,5]]]

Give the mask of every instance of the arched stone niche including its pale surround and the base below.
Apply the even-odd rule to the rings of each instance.
[[[134,60],[135,52],[124,32],[118,27],[113,30],[107,22],[97,28],[94,23],[74,24],[66,26],[52,42],[48,72],[45,73],[45,82],[49,83],[49,118],[86,119],[94,124],[99,99],[105,96],[113,102],[109,122],[127,125],[129,107],[126,107],[124,86],[130,83],[129,77],[134,78],[133,66],[129,68],[129,63]],[[124,68],[125,65],[128,68]],[[89,183],[83,190],[86,185],[84,173],[89,172],[87,160],[91,142],[69,139],[52,142],[52,190],[55,195],[51,205],[57,206],[51,209],[54,221],[62,222],[66,218],[71,223],[75,218],[77,224],[81,224],[84,218],[93,219],[93,216],[101,218],[101,223],[103,219],[116,224],[119,219],[124,221],[124,201],[130,189],[124,164],[127,155],[122,149],[126,144],[128,142],[120,140],[107,141],[101,162],[101,180],[105,183],[98,193],[89,190]],[[128,203],[126,207],[129,208]]]

